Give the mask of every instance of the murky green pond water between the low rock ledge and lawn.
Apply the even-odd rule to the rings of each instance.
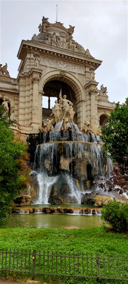
[[[62,228],[76,226],[80,229],[100,227],[101,216],[72,214],[9,214],[0,224],[0,228]]]

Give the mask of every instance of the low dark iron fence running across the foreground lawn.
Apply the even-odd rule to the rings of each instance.
[[[0,251],[0,271],[20,273],[28,277],[51,275],[128,281],[127,257],[92,254],[42,253],[29,251]]]

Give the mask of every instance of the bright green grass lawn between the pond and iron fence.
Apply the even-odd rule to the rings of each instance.
[[[96,256],[127,256],[128,254],[128,234],[106,233],[104,227],[91,229],[36,229],[36,228],[6,228],[0,229],[0,250],[4,249],[29,249],[39,251],[47,251],[51,254],[66,252],[71,255]],[[45,283],[48,279],[41,277]],[[53,277],[49,279],[52,281]],[[108,282],[109,281],[109,282]],[[61,277],[56,283],[97,283],[96,279],[78,279],[69,277]],[[119,283],[114,280],[101,280],[101,283]]]

